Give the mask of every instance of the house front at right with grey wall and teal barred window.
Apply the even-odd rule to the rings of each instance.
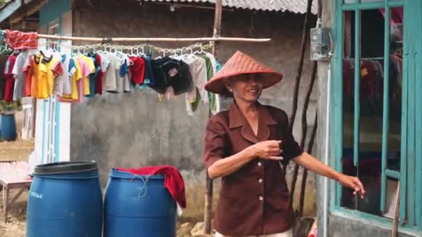
[[[390,236],[397,191],[398,236],[422,236],[422,1],[355,2],[323,1],[333,56],[318,64],[316,141],[368,193],[319,179],[319,236]]]

